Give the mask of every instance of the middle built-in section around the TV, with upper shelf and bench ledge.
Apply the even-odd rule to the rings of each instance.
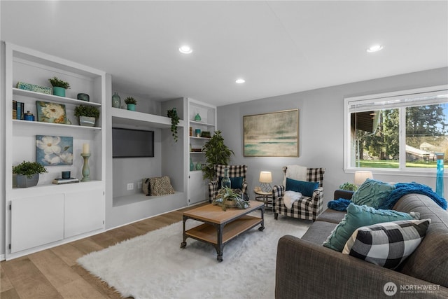
[[[121,93],[123,95],[123,92]],[[123,96],[124,97],[124,96]],[[135,97],[135,96],[134,96]],[[151,101],[151,99],[146,99]],[[123,98],[122,98],[123,101]],[[112,158],[112,136],[107,134],[107,186],[106,228],[113,228],[158,214],[187,206],[187,169],[184,167],[186,142],[184,137],[186,99],[172,99],[165,102],[153,102],[158,106],[159,114],[146,113],[143,101],[137,109],[128,111],[107,106],[110,127],[122,127],[135,130],[151,130],[155,135],[155,155],[153,158]],[[179,118],[179,139],[172,138],[171,118],[163,116],[167,109],[176,107]],[[166,114],[165,114],[166,115]],[[109,127],[109,125],[108,125]],[[169,176],[175,193],[172,195],[146,196],[137,188],[142,179],[153,176]],[[127,183],[134,183],[134,190],[125,190]]]

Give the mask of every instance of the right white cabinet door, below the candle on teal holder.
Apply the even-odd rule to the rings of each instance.
[[[65,238],[104,228],[103,190],[66,193],[64,215]]]

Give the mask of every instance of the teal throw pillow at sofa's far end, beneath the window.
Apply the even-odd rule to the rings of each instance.
[[[395,189],[395,187],[389,183],[374,179],[366,179],[365,182],[359,186],[358,190],[353,193],[351,202],[358,204],[359,206],[365,204],[366,206],[379,209],[393,189]]]

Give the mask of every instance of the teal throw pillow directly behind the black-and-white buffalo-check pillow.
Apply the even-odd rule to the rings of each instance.
[[[347,214],[341,222],[328,236],[323,246],[342,252],[347,240],[353,232],[361,226],[367,226],[383,222],[400,221],[400,220],[419,220],[420,214],[411,212],[409,214],[394,210],[374,209],[365,205],[358,206],[349,204]]]

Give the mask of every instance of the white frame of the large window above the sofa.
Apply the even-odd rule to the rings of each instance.
[[[440,93],[448,93],[448,85],[437,85],[428,88],[416,88],[412,90],[400,90],[397,92],[385,92],[376,95],[365,95],[360,97],[346,97],[344,98],[344,172],[353,173],[356,170],[370,170],[374,174],[400,174],[403,176],[434,176],[435,168],[415,168],[415,167],[402,167],[406,162],[406,153],[401,151],[401,148],[405,148],[406,140],[403,138],[405,132],[402,132],[400,127],[400,167],[399,168],[371,168],[371,167],[353,167],[350,165],[351,162],[351,111],[350,107],[353,105],[366,105],[370,107],[370,110],[374,106],[374,102],[395,102],[400,101],[400,99],[409,98],[409,96],[419,94],[433,95]],[[377,103],[378,104],[378,103]],[[384,109],[385,106],[376,106],[377,109]],[[398,107],[397,107],[398,108]],[[400,125],[405,123],[405,113],[400,113]],[[445,173],[446,175],[446,173]]]

